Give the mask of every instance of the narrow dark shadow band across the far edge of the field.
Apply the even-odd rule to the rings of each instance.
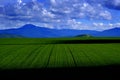
[[[120,43],[120,39],[86,39],[86,40],[46,40],[40,42],[27,42],[27,43],[0,43],[0,45],[45,45],[45,44],[109,44]]]

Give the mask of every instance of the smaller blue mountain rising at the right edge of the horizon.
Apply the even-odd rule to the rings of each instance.
[[[102,32],[94,34],[98,37],[120,37],[120,28],[113,28],[109,30],[104,30]]]

